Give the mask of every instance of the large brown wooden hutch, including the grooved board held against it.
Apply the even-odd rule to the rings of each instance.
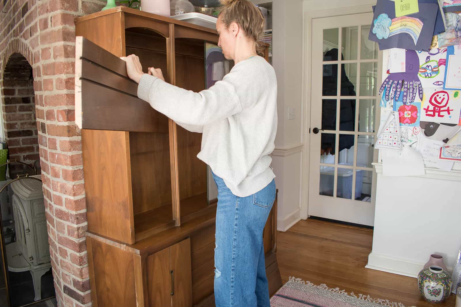
[[[195,92],[213,29],[119,6],[76,18],[76,122],[82,128],[93,306],[214,306],[216,195],[191,133],[137,98],[119,57]],[[266,51],[267,55],[267,51]],[[263,235],[270,294],[277,200]]]

